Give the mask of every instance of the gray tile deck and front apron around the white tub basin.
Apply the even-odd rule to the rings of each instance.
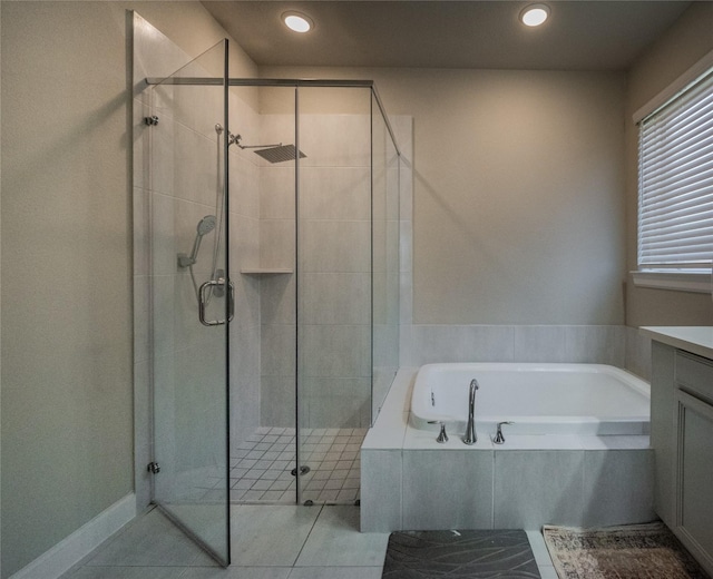
[[[539,529],[649,521],[653,457],[648,436],[507,436],[478,431],[445,444],[409,425],[418,369],[401,369],[361,450],[362,532]],[[635,492],[632,490],[635,489]]]

